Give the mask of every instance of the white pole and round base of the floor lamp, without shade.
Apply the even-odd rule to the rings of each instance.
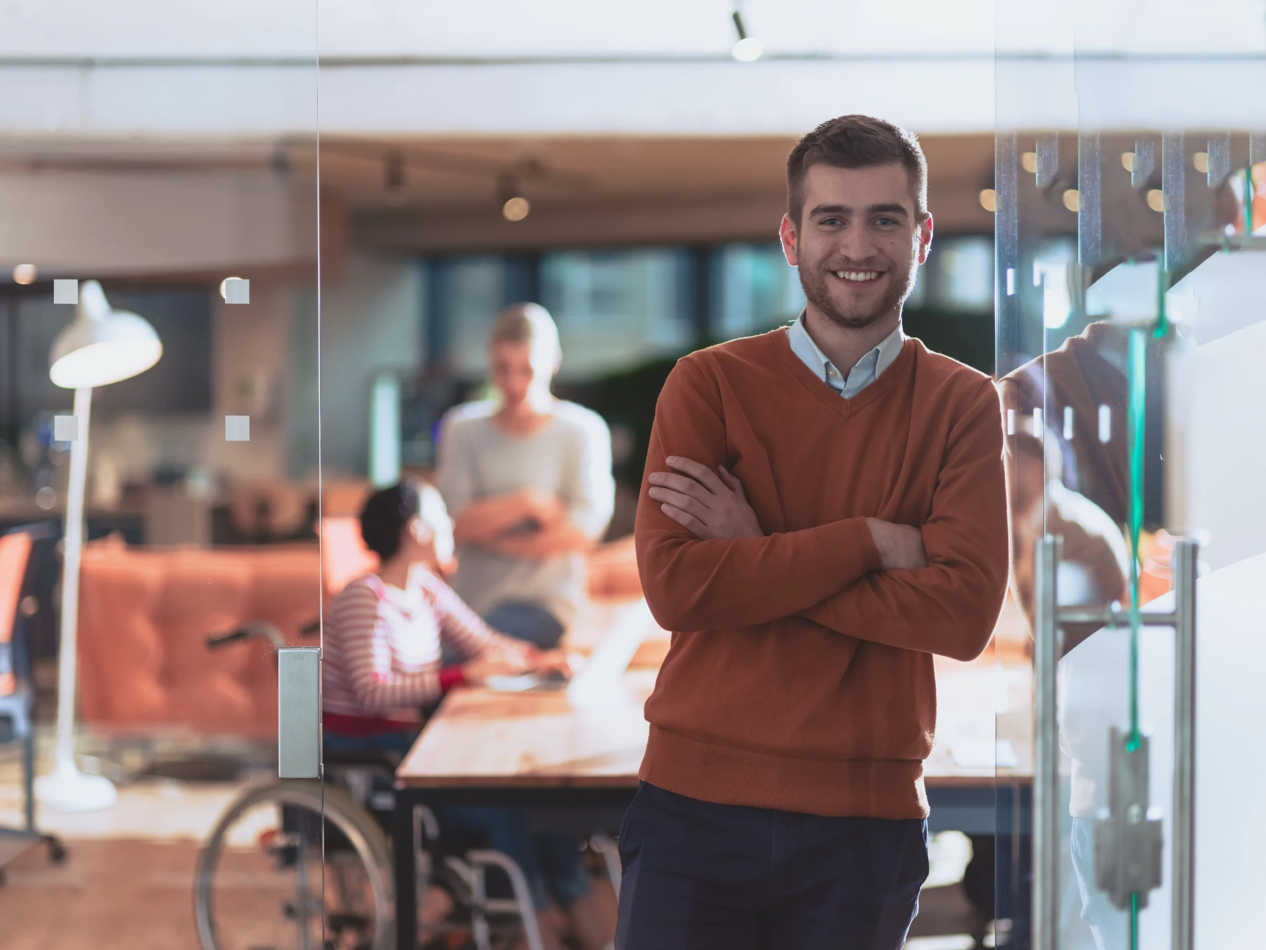
[[[87,429],[92,390],[75,390],[76,438],[66,493],[66,552],[62,559],[62,622],[57,660],[57,745],[53,770],[35,780],[41,804],[61,812],[94,812],[119,801],[109,779],[86,775],[75,764],[75,698],[78,666],[78,581],[84,550],[84,489],[87,483]]]

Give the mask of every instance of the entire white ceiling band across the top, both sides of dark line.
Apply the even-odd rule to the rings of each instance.
[[[0,0],[0,133],[785,136],[848,111],[950,134],[1266,128],[1266,0],[743,0],[756,63],[728,56],[733,9]]]

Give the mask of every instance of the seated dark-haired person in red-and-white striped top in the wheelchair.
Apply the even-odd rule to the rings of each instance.
[[[441,569],[452,561],[453,527],[443,499],[430,485],[405,481],[371,495],[361,512],[361,535],[381,566],[348,584],[325,616],[322,703],[327,750],[377,750],[404,757],[422,728],[420,709],[437,703],[453,685],[566,668],[557,651],[541,651],[491,630],[441,579]],[[442,645],[468,659],[442,665]],[[592,893],[572,839],[533,837],[523,813],[506,808],[444,808],[437,817],[442,825],[481,832],[490,847],[523,869],[547,947],[562,947],[549,894],[571,911],[584,945],[605,942],[585,939],[584,931],[592,930]],[[549,870],[548,880],[542,865]],[[433,892],[437,889],[428,890]],[[424,907],[422,913],[433,921],[446,909],[430,916]]]

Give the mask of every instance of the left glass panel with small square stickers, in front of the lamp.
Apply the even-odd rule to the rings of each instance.
[[[56,836],[0,730],[15,946],[314,947],[339,909],[319,785],[243,799],[276,651],[320,642],[316,10],[190,10],[6,14],[0,703]]]

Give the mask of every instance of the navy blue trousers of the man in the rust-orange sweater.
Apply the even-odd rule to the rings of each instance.
[[[642,783],[620,828],[617,950],[900,950],[920,818],[713,804]]]

